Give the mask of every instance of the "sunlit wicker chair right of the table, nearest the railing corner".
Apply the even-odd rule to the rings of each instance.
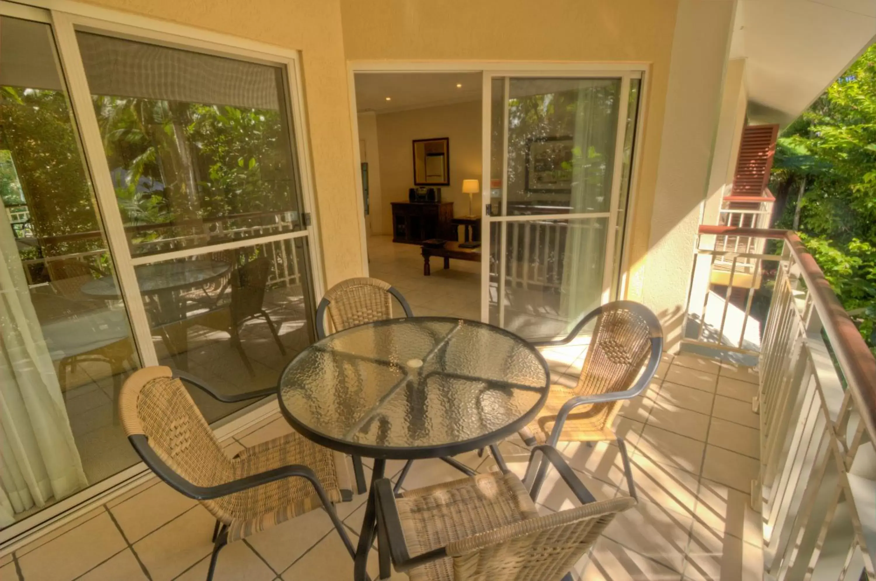
[[[614,433],[611,422],[624,400],[642,393],[657,371],[663,352],[663,330],[657,317],[638,302],[614,301],[590,311],[568,337],[533,345],[568,344],[594,319],[596,328],[577,385],[551,386],[545,406],[533,422],[521,430],[520,437],[529,446],[617,440],[626,465],[629,459],[624,439]],[[533,477],[536,493],[547,469],[548,465],[541,462],[529,465],[530,471],[538,471]],[[528,477],[532,475],[527,472]]]

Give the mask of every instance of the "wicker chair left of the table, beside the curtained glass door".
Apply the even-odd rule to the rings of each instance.
[[[127,379],[119,411],[128,440],[159,478],[201,504],[216,518],[213,578],[219,550],[314,508],[324,507],[343,543],[355,554],[333,503],[350,500],[347,459],[289,434],[228,457],[180,379],[213,396],[236,402],[276,389],[225,396],[169,367],[146,367]]]

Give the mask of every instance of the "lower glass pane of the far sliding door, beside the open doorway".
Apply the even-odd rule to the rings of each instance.
[[[505,228],[505,284],[499,230]],[[608,218],[491,223],[490,322],[526,339],[566,335],[602,300]],[[500,301],[501,297],[501,301]]]

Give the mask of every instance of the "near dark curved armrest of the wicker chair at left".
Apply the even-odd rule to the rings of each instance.
[[[279,468],[274,468],[273,470],[247,476],[246,478],[238,478],[237,480],[224,482],[221,485],[195,485],[192,482],[189,482],[186,478],[181,477],[180,474],[173,471],[170,466],[165,464],[164,460],[155,453],[155,450],[152,450],[152,446],[149,445],[149,438],[146,437],[145,434],[134,434],[128,436],[128,440],[131,442],[134,450],[137,451],[139,457],[143,458],[145,464],[149,466],[159,478],[164,480],[175,491],[180,492],[191,499],[217,499],[234,492],[241,492],[248,488],[254,488],[256,486],[265,485],[276,480],[283,480],[293,476],[307,478],[318,492],[321,491],[321,483],[316,478],[314,471],[302,464],[281,466]]]

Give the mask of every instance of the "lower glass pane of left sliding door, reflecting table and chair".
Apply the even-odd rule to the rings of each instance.
[[[224,393],[276,386],[286,364],[314,341],[307,269],[306,238],[137,266],[161,365]],[[252,403],[191,393],[208,422]]]

